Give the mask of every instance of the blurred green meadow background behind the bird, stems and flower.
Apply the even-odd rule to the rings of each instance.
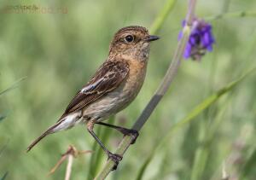
[[[29,154],[26,147],[53,125],[74,94],[108,55],[113,33],[123,26],[150,27],[165,0],[71,1],[1,0],[9,5],[37,5],[67,9],[67,14],[0,15],[0,178],[10,180],[64,179],[65,165],[47,177],[61,154],[73,144],[94,150],[73,162],[71,179],[92,179],[106,161],[84,126],[46,137]],[[115,125],[130,127],[160,84],[177,46],[177,34],[186,15],[187,1],[177,1],[151,47],[148,74],[139,96],[119,113]],[[199,0],[200,17],[224,12],[255,10],[253,0]],[[117,171],[108,179],[221,179],[223,167],[230,179],[256,178],[256,73],[218,99],[190,123],[154,147],[207,96],[256,66],[255,17],[211,21],[217,43],[201,62],[183,61],[163,101],[129,148]],[[96,127],[114,150],[122,136]],[[153,154],[152,159],[148,159]],[[99,158],[101,157],[101,158]],[[151,157],[151,156],[150,156]],[[145,160],[150,162],[145,164]]]

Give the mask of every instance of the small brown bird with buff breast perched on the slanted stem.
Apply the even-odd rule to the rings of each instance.
[[[110,44],[108,59],[93,78],[79,90],[55,125],[49,127],[27,148],[33,148],[44,136],[74,125],[85,124],[87,130],[101,145],[116,165],[122,157],[108,151],[93,131],[95,124],[114,128],[134,141],[138,132],[102,123],[102,120],[127,107],[141,90],[147,70],[149,44],[159,39],[148,34],[143,26],[127,26],[115,33]]]

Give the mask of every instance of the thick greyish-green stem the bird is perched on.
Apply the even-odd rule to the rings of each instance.
[[[166,91],[169,89],[173,78],[177,74],[177,68],[179,67],[180,61],[183,58],[183,51],[189,39],[191,24],[194,17],[195,3],[196,3],[196,0],[189,1],[189,10],[186,17],[187,25],[183,27],[183,38],[181,38],[177,44],[177,49],[172,58],[170,67],[168,68],[166,75],[163,78],[162,83],[160,84],[158,90],[156,90],[154,96],[151,98],[150,102],[148,102],[147,107],[144,108],[143,113],[140,115],[140,117],[137,119],[136,123],[132,127],[137,131],[141,130],[141,128],[143,127],[145,122],[148,120],[151,113],[153,113],[154,108],[160,102],[161,98],[166,94]],[[125,151],[127,148],[129,148],[131,141],[132,141],[132,138],[130,136],[125,136],[122,139],[122,141],[119,143],[119,147],[117,148],[115,154],[120,154],[120,155],[125,154]],[[95,177],[95,180],[105,179],[108,176],[108,174],[112,171],[113,165],[114,165],[113,160],[109,159],[106,165],[104,165],[104,167],[102,168],[102,171],[100,171],[98,175]]]

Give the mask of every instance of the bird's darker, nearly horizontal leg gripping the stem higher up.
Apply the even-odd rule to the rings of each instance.
[[[127,129],[125,127],[120,127],[117,125],[109,125],[107,123],[102,123],[102,122],[96,122],[97,125],[104,125],[110,128],[113,128],[119,132],[121,132],[124,136],[131,136],[132,137],[132,142],[131,144],[134,144],[136,142],[137,136],[139,136],[139,133],[137,130],[133,129]]]

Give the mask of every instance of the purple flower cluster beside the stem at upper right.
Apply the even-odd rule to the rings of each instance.
[[[183,20],[185,26],[185,20]],[[178,39],[182,38],[183,33],[180,32]],[[212,36],[212,26],[204,20],[195,19],[192,24],[192,32],[189,36],[188,44],[185,47],[183,57],[190,57],[195,61],[200,61],[201,57],[206,54],[207,50],[212,51],[212,44],[215,39]]]

